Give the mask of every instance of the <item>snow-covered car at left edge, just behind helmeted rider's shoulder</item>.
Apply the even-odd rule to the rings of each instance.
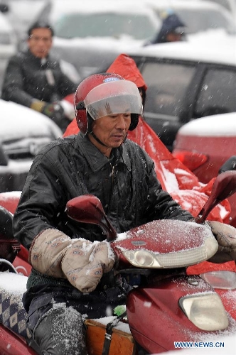
[[[62,136],[43,114],[0,99],[0,192],[22,190],[36,153]]]

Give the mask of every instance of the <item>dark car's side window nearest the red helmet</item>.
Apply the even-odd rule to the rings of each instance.
[[[179,116],[195,67],[171,62],[148,62],[142,75],[148,86],[145,112]]]

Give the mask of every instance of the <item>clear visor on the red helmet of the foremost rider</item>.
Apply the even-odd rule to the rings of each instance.
[[[143,113],[139,89],[129,80],[114,80],[98,85],[87,94],[84,103],[94,120],[112,114]]]

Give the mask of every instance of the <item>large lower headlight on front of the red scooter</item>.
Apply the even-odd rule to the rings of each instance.
[[[181,310],[193,324],[203,330],[226,329],[229,325],[225,308],[217,293],[198,293],[181,297]]]

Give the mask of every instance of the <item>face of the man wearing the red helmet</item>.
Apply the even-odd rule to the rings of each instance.
[[[109,156],[112,148],[119,147],[126,138],[130,124],[131,115],[129,113],[101,117],[92,124],[92,131],[108,149],[95,141],[92,136],[90,136],[90,140],[102,153]]]

